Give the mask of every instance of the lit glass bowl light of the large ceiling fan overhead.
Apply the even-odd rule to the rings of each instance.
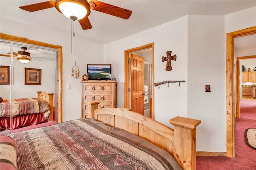
[[[90,4],[86,0],[55,0],[55,8],[72,20],[90,15]]]

